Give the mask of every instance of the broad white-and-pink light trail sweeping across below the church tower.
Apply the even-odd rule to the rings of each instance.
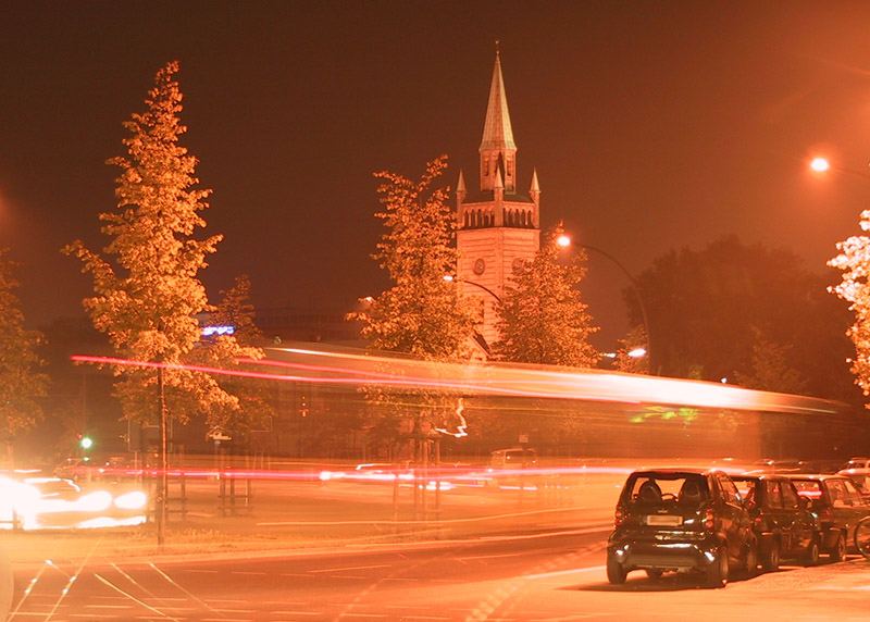
[[[253,380],[335,386],[385,386],[432,389],[468,395],[555,398],[613,403],[680,405],[782,413],[831,414],[843,405],[829,400],[745,389],[733,385],[686,381],[600,370],[556,370],[530,365],[436,363],[393,357],[361,356],[306,348],[275,349],[301,361],[274,359],[240,362],[250,366],[296,370],[282,374],[254,370],[226,370],[208,365],[181,365],[77,354],[76,362],[138,368],[164,368]],[[313,359],[314,363],[304,359]],[[336,361],[332,364],[332,361]],[[388,372],[383,371],[389,369]],[[319,374],[319,375],[314,375]]]

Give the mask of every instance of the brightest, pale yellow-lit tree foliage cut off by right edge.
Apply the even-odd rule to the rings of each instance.
[[[861,212],[861,229],[870,231],[870,210]],[[846,334],[855,346],[855,358],[850,360],[855,383],[865,397],[870,396],[870,237],[856,235],[837,242],[837,254],[828,265],[840,270],[841,282],[831,288],[849,303],[855,315]],[[865,405],[870,408],[870,403]]]

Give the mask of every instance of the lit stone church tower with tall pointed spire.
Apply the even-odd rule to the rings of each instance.
[[[480,191],[468,191],[461,171],[456,188],[457,276],[463,294],[480,300],[477,332],[490,348],[498,340],[497,298],[504,295],[523,262],[534,258],[540,245],[537,172],[532,173],[527,194],[518,194],[517,145],[498,50],[480,154]]]

